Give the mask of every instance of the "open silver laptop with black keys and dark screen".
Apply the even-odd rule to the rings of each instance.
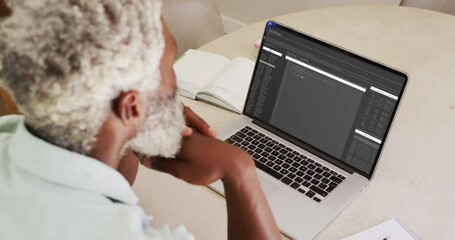
[[[407,81],[269,21],[243,115],[218,137],[252,155],[282,233],[312,239],[371,181]]]

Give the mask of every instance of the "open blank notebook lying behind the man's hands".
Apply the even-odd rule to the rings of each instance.
[[[242,113],[254,62],[244,57],[232,60],[197,50],[188,50],[174,64],[178,93]]]

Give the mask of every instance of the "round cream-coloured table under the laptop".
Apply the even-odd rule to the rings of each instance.
[[[373,181],[316,239],[340,239],[395,216],[423,239],[454,239],[455,17],[403,7],[343,7],[274,19],[410,76]],[[201,50],[251,58],[264,23]],[[214,127],[235,116],[184,102]],[[141,168],[134,189],[154,225],[185,224],[197,239],[226,239],[225,200],[208,188]]]

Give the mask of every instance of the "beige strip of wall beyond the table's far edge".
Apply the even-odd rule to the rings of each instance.
[[[399,5],[401,0],[213,0],[226,32],[274,16],[313,8],[347,5]]]

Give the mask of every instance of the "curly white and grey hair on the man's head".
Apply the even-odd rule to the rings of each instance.
[[[26,124],[87,154],[111,101],[156,91],[164,37],[159,0],[10,0],[0,77]]]

